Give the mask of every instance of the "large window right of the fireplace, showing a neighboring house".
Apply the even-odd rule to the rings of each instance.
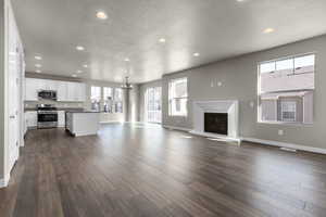
[[[315,54],[259,64],[259,122],[313,122]]]

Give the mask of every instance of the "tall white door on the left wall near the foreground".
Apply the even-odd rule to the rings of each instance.
[[[17,41],[17,33],[15,28],[14,18],[12,13],[9,13],[9,168],[13,167],[18,158],[18,138],[20,138],[20,48]]]

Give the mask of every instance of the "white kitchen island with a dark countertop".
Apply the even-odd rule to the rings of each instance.
[[[65,130],[75,137],[97,135],[100,129],[99,112],[66,112]]]

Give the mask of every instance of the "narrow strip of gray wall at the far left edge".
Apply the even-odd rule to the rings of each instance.
[[[4,176],[4,0],[0,0],[0,179]]]

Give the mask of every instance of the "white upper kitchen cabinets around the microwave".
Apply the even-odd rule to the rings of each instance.
[[[26,101],[38,101],[38,91],[57,91],[60,102],[84,102],[86,100],[86,86],[82,82],[68,82],[60,80],[26,78]]]

